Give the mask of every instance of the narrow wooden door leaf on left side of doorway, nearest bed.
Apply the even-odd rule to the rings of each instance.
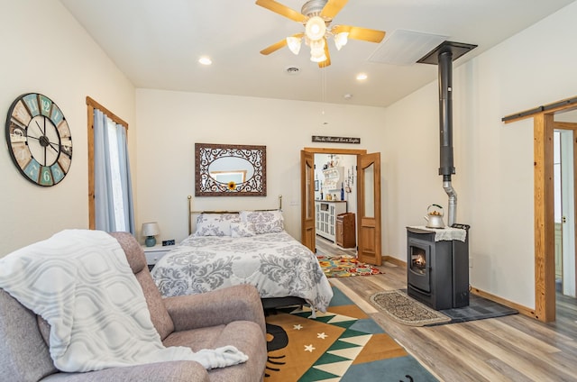
[[[315,231],[315,154],[300,151],[300,240],[316,253]]]

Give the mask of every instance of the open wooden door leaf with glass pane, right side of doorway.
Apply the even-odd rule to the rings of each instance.
[[[380,152],[357,156],[359,261],[380,265]]]

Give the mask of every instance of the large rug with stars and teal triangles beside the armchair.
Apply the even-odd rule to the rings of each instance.
[[[327,312],[277,309],[266,317],[265,382],[437,379],[336,287]]]

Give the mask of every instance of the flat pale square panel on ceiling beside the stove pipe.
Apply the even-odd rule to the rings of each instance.
[[[413,65],[428,51],[435,49],[447,36],[398,29],[375,50],[370,62],[399,66]]]

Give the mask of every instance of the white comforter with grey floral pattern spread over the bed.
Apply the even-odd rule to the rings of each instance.
[[[321,312],[333,297],[315,254],[288,232],[241,238],[189,236],[151,273],[162,296],[252,284],[262,298],[301,297]]]

